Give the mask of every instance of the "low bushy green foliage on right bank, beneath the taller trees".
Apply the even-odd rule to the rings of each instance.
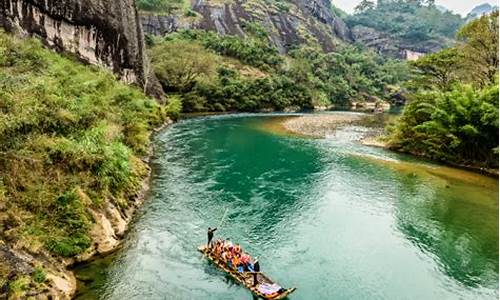
[[[393,129],[391,145],[436,160],[498,167],[498,83],[416,94]]]

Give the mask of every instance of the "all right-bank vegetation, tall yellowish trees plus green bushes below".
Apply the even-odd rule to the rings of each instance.
[[[393,148],[432,159],[498,167],[498,11],[458,32],[455,48],[413,64],[411,101]]]

